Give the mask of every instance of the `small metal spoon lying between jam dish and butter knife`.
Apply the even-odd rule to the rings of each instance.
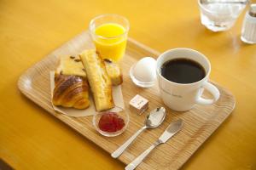
[[[147,128],[155,128],[159,127],[160,124],[165,120],[166,118],[166,109],[164,107],[159,107],[154,109],[149,113],[145,120],[145,125],[137,131],[137,133],[134,133],[130,139],[128,139],[125,144],[122,144],[119,149],[115,150],[111,156],[113,158],[117,158],[120,156],[124,150],[133,142],[134,139],[137,138],[137,136],[142,133]]]

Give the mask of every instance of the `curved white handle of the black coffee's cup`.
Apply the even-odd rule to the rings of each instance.
[[[219,98],[219,91],[218,88],[216,88],[212,83],[206,82],[203,84],[202,88],[207,89],[213,96],[213,99],[204,99],[201,96],[196,99],[196,103],[199,105],[212,105],[214,102],[216,102]]]

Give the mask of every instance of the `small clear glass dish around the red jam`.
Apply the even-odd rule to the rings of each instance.
[[[99,125],[99,121],[101,119],[101,117],[104,115],[104,114],[117,114],[120,118],[122,118],[125,122],[125,126],[122,127],[120,130],[116,131],[116,132],[113,132],[113,133],[108,133],[106,131],[102,131],[100,129],[100,127],[98,126]],[[129,114],[126,113],[125,111],[120,111],[120,112],[100,112],[100,113],[96,113],[93,118],[92,118],[92,122],[93,122],[93,126],[96,128],[96,131],[98,131],[99,133],[101,133],[103,136],[107,136],[107,137],[114,137],[114,136],[118,136],[119,134],[123,133],[125,131],[125,129],[127,128],[128,126],[128,123],[129,123]]]

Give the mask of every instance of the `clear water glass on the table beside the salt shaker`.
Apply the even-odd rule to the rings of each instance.
[[[241,0],[198,0],[201,24],[211,31],[227,31],[246,7]]]

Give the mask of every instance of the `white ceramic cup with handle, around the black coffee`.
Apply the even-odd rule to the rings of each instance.
[[[192,59],[202,65],[206,71],[206,77],[198,82],[177,83],[167,80],[161,75],[162,65],[171,59]],[[208,82],[211,72],[211,64],[207,57],[198,51],[190,48],[174,48],[160,54],[156,60],[156,74],[159,82],[160,96],[165,105],[174,111],[189,111],[195,104],[212,105],[219,98],[219,91],[211,82]],[[203,90],[207,89],[213,96],[213,99],[204,99],[201,97]]]

